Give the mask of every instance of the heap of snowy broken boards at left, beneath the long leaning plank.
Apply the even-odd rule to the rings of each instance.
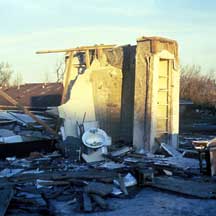
[[[44,111],[32,112],[50,128],[58,121]],[[26,156],[31,151],[54,151],[56,137],[22,111],[0,112],[0,157]]]

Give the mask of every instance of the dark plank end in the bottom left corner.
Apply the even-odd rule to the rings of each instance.
[[[12,187],[0,188],[0,216],[4,216],[13,197]]]

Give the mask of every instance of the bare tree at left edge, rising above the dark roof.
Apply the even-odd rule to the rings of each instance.
[[[13,70],[8,63],[0,63],[0,85],[7,87],[10,85]]]

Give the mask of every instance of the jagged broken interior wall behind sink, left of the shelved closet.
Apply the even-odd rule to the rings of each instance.
[[[91,53],[90,66],[81,74],[74,54],[66,59],[66,103],[59,107],[65,135],[77,136],[77,121],[98,121],[114,141],[132,143],[135,46]],[[93,56],[93,58],[92,58]]]

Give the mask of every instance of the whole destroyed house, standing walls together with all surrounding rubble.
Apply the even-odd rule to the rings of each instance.
[[[215,139],[191,143],[189,138],[179,146],[176,41],[142,37],[136,45],[38,53],[55,52],[65,53],[58,115],[44,107],[35,112],[20,103],[19,94],[16,101],[0,89],[6,102],[22,110],[6,107],[0,115],[6,125],[0,147],[10,153],[0,160],[0,215],[116,210],[112,198],[131,198],[145,187],[216,198],[216,179],[207,176],[216,174]],[[44,105],[51,95],[43,96],[29,102]],[[44,149],[48,144],[54,148]],[[23,150],[28,156],[19,158],[16,153]]]

